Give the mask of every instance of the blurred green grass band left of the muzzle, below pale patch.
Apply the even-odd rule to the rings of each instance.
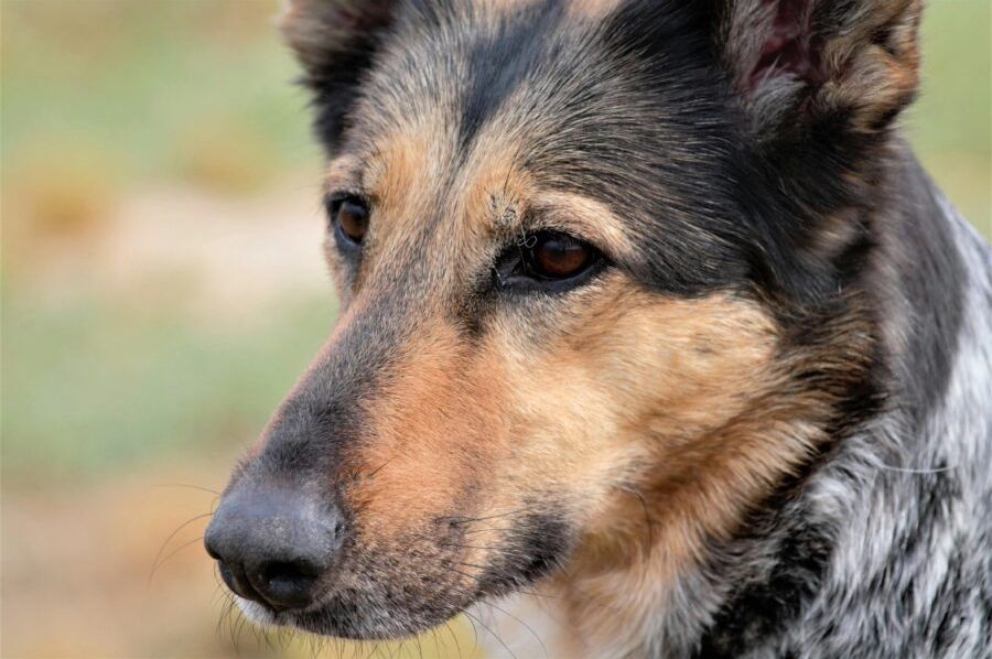
[[[91,296],[53,310],[4,295],[4,485],[216,455],[265,424],[331,327],[327,299],[251,333]],[[13,385],[13,386],[11,386]],[[10,413],[12,412],[12,413]],[[11,441],[12,440],[12,441]]]

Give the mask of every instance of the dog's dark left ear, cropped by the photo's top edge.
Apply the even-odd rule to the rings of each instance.
[[[333,151],[352,97],[370,66],[381,35],[396,21],[399,0],[289,0],[282,33],[315,95],[316,130]]]

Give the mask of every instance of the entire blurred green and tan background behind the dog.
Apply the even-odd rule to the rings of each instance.
[[[930,1],[904,120],[986,237],[990,8]],[[335,314],[278,11],[0,0],[3,657],[314,651],[224,615],[197,517]]]

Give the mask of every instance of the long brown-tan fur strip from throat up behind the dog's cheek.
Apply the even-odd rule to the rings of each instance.
[[[810,366],[840,376],[844,359],[852,365],[848,377],[860,377],[872,346],[866,327],[850,320],[840,321],[835,331],[837,343],[822,353],[778,357],[736,376],[727,372],[725,383],[737,381],[746,393],[714,396],[704,406],[723,412],[719,428],[656,444],[647,473],[613,497],[589,525],[586,541],[569,569],[546,586],[564,602],[571,633],[561,642],[573,644],[575,651],[632,651],[624,642],[649,636],[657,612],[678,606],[670,588],[681,573],[699,566],[702,543],[730,538],[748,508],[826,441],[823,428],[835,413],[830,392],[804,391],[790,380]],[[732,363],[725,366],[734,368]],[[672,430],[677,433],[678,428]]]

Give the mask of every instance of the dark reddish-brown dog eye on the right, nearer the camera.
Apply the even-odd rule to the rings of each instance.
[[[592,245],[561,231],[521,237],[496,262],[503,288],[565,290],[587,281],[604,263]]]

